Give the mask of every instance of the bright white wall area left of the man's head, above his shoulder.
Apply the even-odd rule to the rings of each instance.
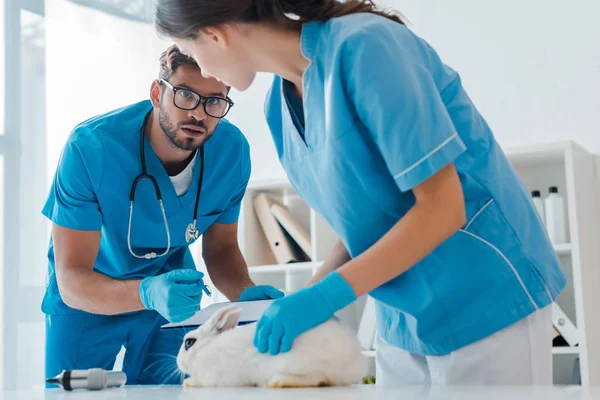
[[[49,182],[75,125],[148,98],[168,45],[151,24],[46,0]]]

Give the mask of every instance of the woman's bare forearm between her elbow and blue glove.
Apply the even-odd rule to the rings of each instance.
[[[456,233],[464,219],[464,210],[443,203],[415,204],[378,242],[338,272],[361,296],[417,264]]]

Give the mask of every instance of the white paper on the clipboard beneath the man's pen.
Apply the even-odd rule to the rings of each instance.
[[[265,310],[271,305],[274,300],[255,300],[255,301],[231,301],[223,303],[214,303],[205,307],[194,314],[193,317],[182,322],[172,322],[161,326],[162,329],[170,328],[193,328],[205,324],[210,317],[223,307],[236,305],[242,309],[240,321],[238,325],[256,322],[260,319]]]

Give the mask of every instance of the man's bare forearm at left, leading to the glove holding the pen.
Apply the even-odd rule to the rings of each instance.
[[[57,280],[61,297],[71,308],[101,315],[144,309],[140,280],[116,280],[81,268],[61,271]]]

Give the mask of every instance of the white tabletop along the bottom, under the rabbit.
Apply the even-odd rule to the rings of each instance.
[[[119,400],[577,400],[600,399],[600,387],[406,387],[379,389],[374,385],[311,389],[264,389],[264,388],[182,388],[179,386],[130,386],[105,389],[97,392],[60,389],[5,391],[0,393],[6,400],[59,400],[59,399],[119,399]]]

